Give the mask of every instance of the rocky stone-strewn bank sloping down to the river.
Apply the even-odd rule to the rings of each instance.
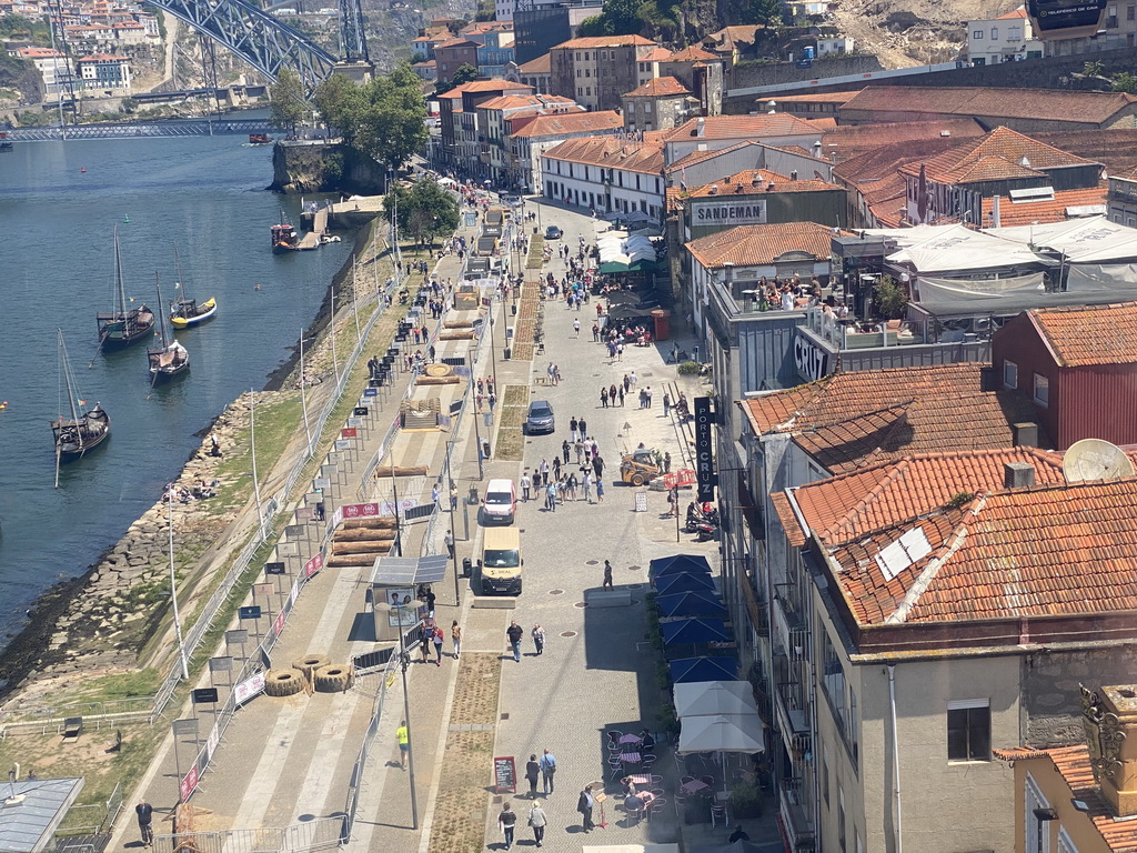
[[[371,229],[359,229],[354,254],[363,255],[371,245]],[[343,282],[351,275],[348,258],[334,274],[337,304],[342,307],[351,298]],[[363,284],[363,282],[360,282]],[[364,297],[360,287],[359,297]],[[372,295],[374,289],[371,290]],[[325,293],[305,339],[315,339],[312,361],[306,364],[309,375],[330,371],[326,332],[331,320],[331,292]],[[340,321],[342,323],[342,321]],[[267,378],[257,394],[258,405],[266,395],[294,394],[289,390],[299,379],[299,341],[290,355]],[[306,351],[306,356],[308,351]],[[306,358],[307,361],[307,358]],[[213,423],[197,433],[201,445],[190,456],[172,482],[192,492],[202,481],[218,477],[224,458],[248,442],[251,392],[230,403]],[[297,424],[302,431],[302,425]],[[210,454],[216,436],[222,456]],[[226,530],[240,521],[244,506],[222,513],[209,512],[209,498],[191,499],[175,505],[175,553],[199,548],[193,555],[197,575],[214,550],[224,546]],[[28,621],[5,648],[0,663],[0,710],[5,712],[49,704],[50,694],[66,691],[92,677],[136,670],[143,647],[161,630],[168,606],[169,554],[167,540],[168,508],[159,499],[132,523],[125,535],[110,546],[85,572],[53,585],[28,610]],[[213,546],[201,547],[202,544]],[[205,586],[204,578],[198,586]],[[182,603],[183,614],[192,613],[190,602]],[[184,618],[184,615],[183,615]]]

